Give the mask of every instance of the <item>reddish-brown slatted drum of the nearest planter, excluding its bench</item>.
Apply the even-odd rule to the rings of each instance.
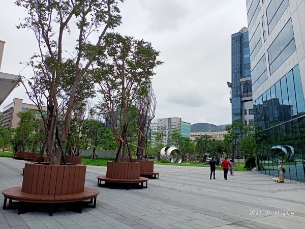
[[[22,192],[37,195],[68,195],[84,191],[86,165],[25,163]]]

